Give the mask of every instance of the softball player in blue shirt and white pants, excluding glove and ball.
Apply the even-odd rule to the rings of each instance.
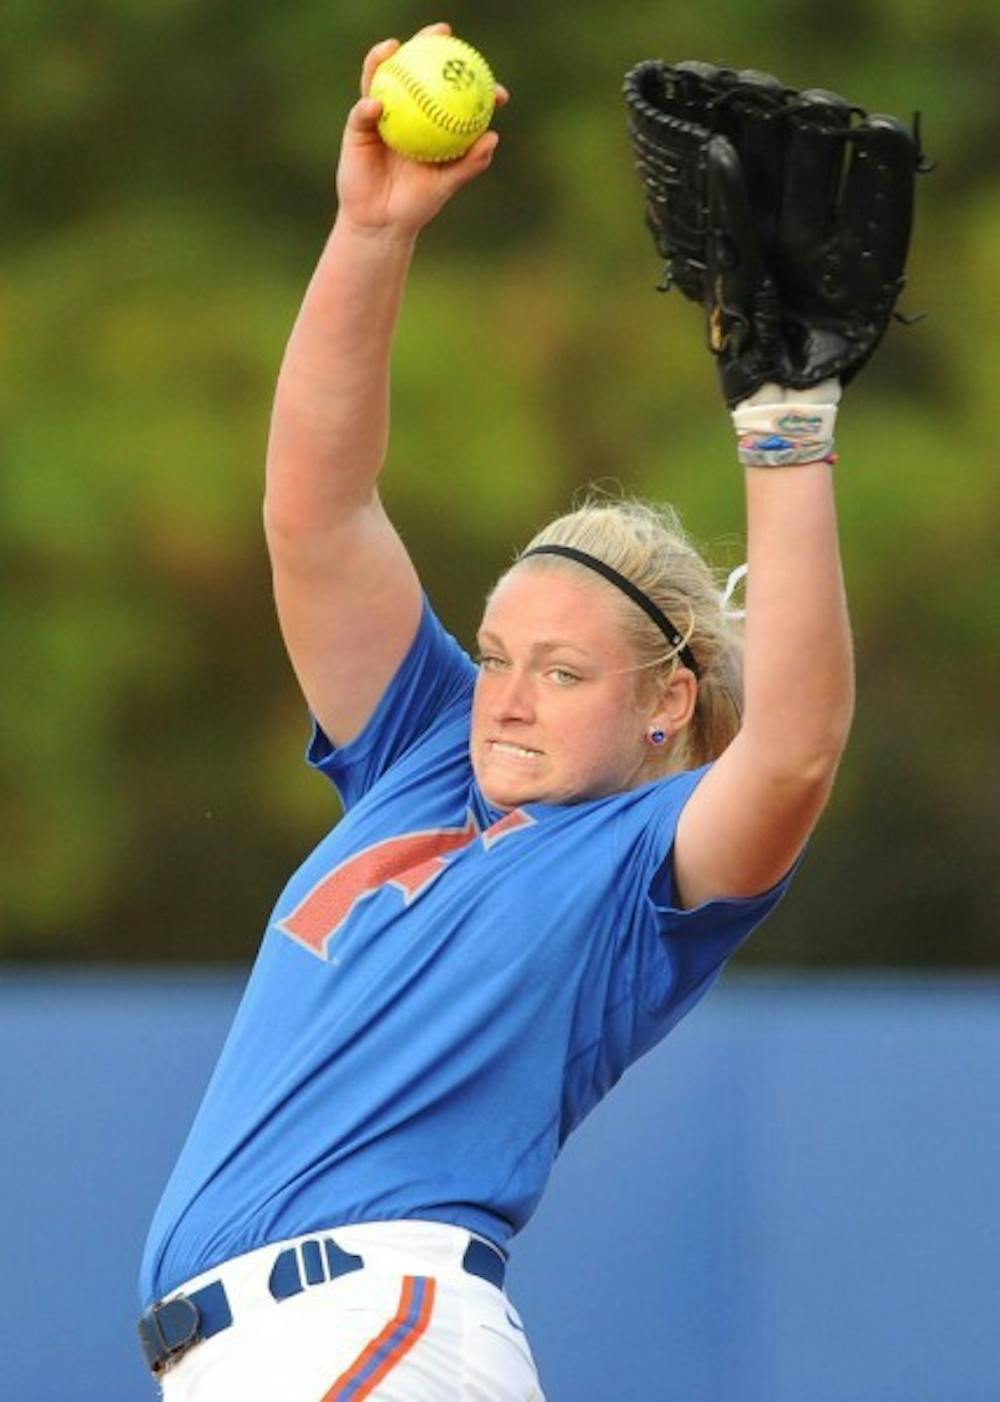
[[[826,461],[746,474],[745,666],[711,571],[642,506],[546,527],[477,662],[442,628],[376,491],[390,342],[419,230],[498,137],[418,165],[376,118],[346,123],[265,513],[345,816],[275,906],[151,1225],[167,1402],[541,1399],[508,1244],[780,899],[851,714]]]

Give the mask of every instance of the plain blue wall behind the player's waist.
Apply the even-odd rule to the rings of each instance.
[[[154,1398],[137,1258],[240,981],[3,976],[4,1398]],[[996,980],[731,976],[516,1244],[550,1402],[997,1402],[999,1068]]]

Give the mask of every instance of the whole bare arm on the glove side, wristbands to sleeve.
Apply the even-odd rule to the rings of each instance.
[[[854,707],[833,471],[746,468],[743,725],[680,815],[686,907],[773,886],[829,798]]]

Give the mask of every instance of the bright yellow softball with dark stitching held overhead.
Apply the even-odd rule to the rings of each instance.
[[[453,161],[489,126],[489,64],[450,34],[418,34],[374,70],[379,135],[414,161]]]

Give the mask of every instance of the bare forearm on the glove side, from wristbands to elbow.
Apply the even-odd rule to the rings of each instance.
[[[778,777],[836,770],[854,705],[833,468],[746,470],[743,736]]]

